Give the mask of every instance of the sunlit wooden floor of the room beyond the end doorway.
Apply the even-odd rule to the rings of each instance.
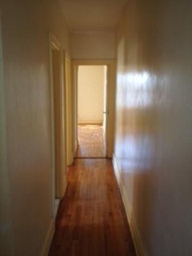
[[[78,143],[75,157],[106,157],[102,126],[78,125]]]

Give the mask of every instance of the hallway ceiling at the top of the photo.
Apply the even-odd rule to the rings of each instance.
[[[71,31],[114,31],[127,0],[60,0]]]

